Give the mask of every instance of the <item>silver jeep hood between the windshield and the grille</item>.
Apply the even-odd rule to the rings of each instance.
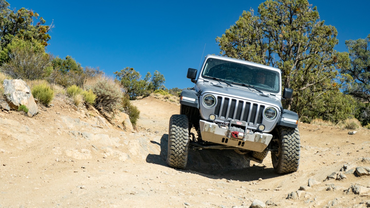
[[[228,97],[238,97],[243,100],[253,100],[258,103],[273,104],[277,107],[281,107],[281,101],[275,95],[262,94],[253,88],[248,89],[237,84],[232,86],[224,84],[213,84],[212,82],[197,83],[195,90],[202,95],[205,93],[222,94]]]

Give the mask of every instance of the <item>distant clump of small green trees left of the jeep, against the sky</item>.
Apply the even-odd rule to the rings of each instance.
[[[116,71],[114,74],[116,79],[119,80],[125,88],[126,93],[129,95],[131,100],[135,100],[139,96],[148,96],[155,90],[165,89],[165,78],[157,70],[154,72],[153,78],[148,72],[144,79],[141,79],[141,74],[138,71],[129,67],[126,67],[119,72]]]

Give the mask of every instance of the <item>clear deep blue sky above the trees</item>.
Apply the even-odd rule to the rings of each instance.
[[[83,67],[100,67],[110,76],[125,67],[142,76],[158,70],[167,88],[186,88],[194,85],[186,78],[188,68],[198,68],[206,54],[219,54],[215,38],[243,10],[257,11],[263,0],[8,2],[11,9],[36,11],[46,24],[54,20],[47,46],[54,56],[72,56]],[[345,40],[370,33],[370,0],[309,3],[317,6],[321,20],[337,28],[337,51],[347,51]]]

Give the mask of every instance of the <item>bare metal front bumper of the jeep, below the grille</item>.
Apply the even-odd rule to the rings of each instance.
[[[232,130],[220,128],[217,124],[208,121],[199,121],[203,141],[238,147],[245,150],[262,152],[272,139],[271,134],[254,132],[253,134],[239,133],[232,136]]]

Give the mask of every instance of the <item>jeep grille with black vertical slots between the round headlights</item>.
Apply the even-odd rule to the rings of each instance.
[[[218,96],[214,113],[217,118],[246,121],[250,125],[254,125],[262,123],[264,109],[265,106],[258,103]]]

